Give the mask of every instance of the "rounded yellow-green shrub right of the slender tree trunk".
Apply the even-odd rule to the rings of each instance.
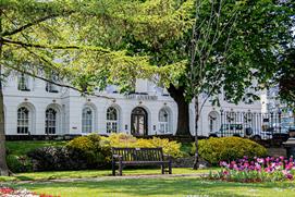
[[[192,153],[196,151],[193,145]],[[219,161],[232,161],[247,156],[265,157],[267,149],[250,140],[241,137],[211,137],[209,139],[199,140],[199,156],[213,165]]]

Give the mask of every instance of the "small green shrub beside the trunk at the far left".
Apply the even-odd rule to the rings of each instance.
[[[9,155],[7,157],[7,163],[9,169],[14,173],[29,172],[33,170],[33,163],[26,156]]]

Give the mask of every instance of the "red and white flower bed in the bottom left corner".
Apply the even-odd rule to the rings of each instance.
[[[0,186],[0,196],[1,197],[57,197],[46,194],[36,194],[27,189],[14,189],[11,187],[1,187]]]

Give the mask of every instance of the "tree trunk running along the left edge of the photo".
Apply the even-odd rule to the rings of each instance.
[[[0,35],[2,33],[2,10],[0,10]],[[0,37],[0,59],[2,57],[2,37]],[[4,126],[4,103],[2,91],[2,65],[0,63],[0,175],[8,176],[9,169],[7,164],[7,149],[5,149],[5,126]]]

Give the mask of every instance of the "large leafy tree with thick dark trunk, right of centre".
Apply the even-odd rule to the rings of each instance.
[[[147,77],[164,85],[177,103],[176,135],[190,135],[188,104],[200,93],[216,97],[216,101],[221,89],[233,102],[245,97],[257,99],[254,93],[260,87],[254,87],[253,81],[267,84],[273,74],[267,67],[278,63],[275,51],[291,39],[292,4],[270,0],[144,1],[124,9],[127,13],[122,12],[121,21],[108,23],[112,25],[103,30],[112,39],[99,36],[94,41],[148,57],[149,64],[123,73],[135,76],[136,70],[150,71]],[[116,25],[124,28],[116,30]],[[245,95],[245,89],[251,90]]]

